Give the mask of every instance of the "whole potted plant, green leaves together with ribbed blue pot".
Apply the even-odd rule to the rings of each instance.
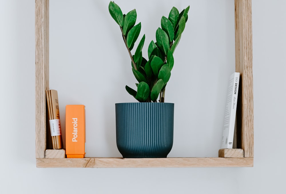
[[[123,158],[166,158],[173,145],[174,103],[164,103],[165,89],[174,66],[173,53],[188,19],[190,6],[179,13],[173,7],[168,18],[161,18],[156,42],[148,46],[148,60],[142,56],[145,34],[135,53],[131,51],[140,34],[136,10],[122,14],[110,1],[109,13],[120,31],[131,58],[137,91],[126,85],[127,92],[139,103],[117,103],[116,143]],[[159,102],[159,103],[157,103]]]

